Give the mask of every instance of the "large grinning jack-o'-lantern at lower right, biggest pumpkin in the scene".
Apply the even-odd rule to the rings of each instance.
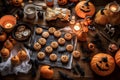
[[[115,69],[114,58],[105,53],[98,53],[91,60],[91,69],[100,76],[110,75]]]

